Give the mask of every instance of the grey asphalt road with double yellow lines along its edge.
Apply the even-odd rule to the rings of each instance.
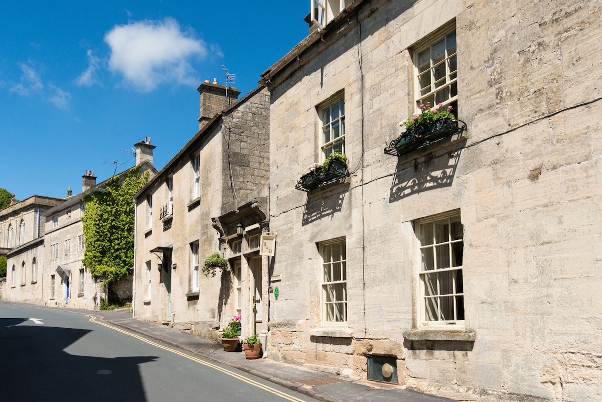
[[[4,303],[0,384],[2,402],[314,401],[95,317]]]

